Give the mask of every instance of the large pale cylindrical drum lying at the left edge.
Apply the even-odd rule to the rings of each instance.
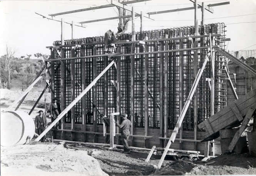
[[[35,123],[27,113],[23,111],[1,112],[1,145],[13,146],[29,143],[28,137],[35,134]]]

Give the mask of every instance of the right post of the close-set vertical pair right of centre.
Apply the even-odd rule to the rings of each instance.
[[[165,38],[168,38],[166,34]],[[169,50],[169,41],[165,43],[165,50]],[[164,138],[168,136],[168,69],[169,69],[169,53],[164,53]],[[165,142],[166,143],[166,142]],[[164,144],[165,146],[166,144]],[[163,147],[164,147],[163,146]]]

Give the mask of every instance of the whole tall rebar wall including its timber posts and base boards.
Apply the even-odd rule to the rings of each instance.
[[[194,26],[142,31],[136,33],[136,41],[131,41],[131,34],[123,34],[113,42],[114,54],[104,54],[104,36],[65,40],[64,45],[55,41],[47,47],[51,49],[46,62],[51,64],[52,98],[59,100],[65,113],[58,116],[64,118],[54,138],[109,143],[113,129],[108,118],[119,112],[127,113],[132,122],[130,146],[165,147],[202,69],[171,148],[204,154],[205,145],[199,142],[204,130],[197,124],[226,106],[226,58],[216,50],[209,54],[214,48],[224,51],[225,25],[199,25],[198,29],[199,35],[194,35]],[[79,96],[87,86],[86,94]],[[119,115],[116,120],[120,123]],[[118,145],[120,131],[115,132],[110,142]],[[219,142],[210,143],[211,155],[221,154]]]

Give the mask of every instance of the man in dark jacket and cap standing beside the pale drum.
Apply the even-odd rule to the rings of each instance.
[[[40,110],[39,115],[35,116],[35,129],[38,131],[38,135],[40,135],[44,132],[45,128],[47,128],[47,120],[44,111]],[[41,138],[41,141],[45,141],[45,135]]]

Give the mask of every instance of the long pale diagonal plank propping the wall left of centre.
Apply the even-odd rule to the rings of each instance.
[[[92,88],[92,86],[100,79],[100,77],[114,64],[114,60],[87,86],[81,94],[79,94],[73,102],[47,127],[41,135],[39,135],[32,144],[36,144],[49,130]]]

